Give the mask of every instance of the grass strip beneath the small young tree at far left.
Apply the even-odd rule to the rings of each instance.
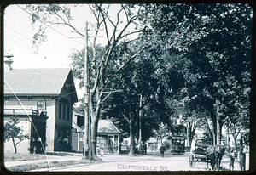
[[[4,161],[31,161],[45,159],[44,155],[32,155],[29,153],[12,153],[9,151],[4,152]]]

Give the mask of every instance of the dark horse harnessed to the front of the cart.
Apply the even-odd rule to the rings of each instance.
[[[220,169],[220,163],[225,150],[226,150],[225,146],[222,146],[222,145],[207,147],[207,169],[208,169],[208,160],[210,160],[210,165],[212,167],[212,170]]]

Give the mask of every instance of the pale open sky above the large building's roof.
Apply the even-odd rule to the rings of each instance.
[[[84,30],[85,21],[89,22],[89,28],[90,24],[94,23],[93,14],[87,5],[79,4],[75,8],[72,5],[71,13],[74,19],[71,23],[80,31]],[[45,29],[47,40],[41,43],[37,50],[32,44],[32,37],[38,31],[38,25],[42,23],[37,21],[36,25],[32,25],[31,17],[32,14],[26,9],[26,5],[9,5],[4,10],[3,49],[4,54],[14,55],[11,58],[14,61],[12,69],[72,68],[69,55],[73,50],[84,48],[84,38],[73,38],[79,35],[65,25],[50,25]],[[99,38],[98,41],[105,43],[104,38]],[[79,80],[75,80],[75,84],[80,99],[84,89],[79,89]]]

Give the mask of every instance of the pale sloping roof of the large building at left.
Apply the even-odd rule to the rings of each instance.
[[[71,74],[69,68],[14,69],[4,71],[4,80],[17,95],[55,96],[60,95],[69,74]],[[4,83],[5,95],[13,95],[9,87]],[[77,99],[77,94],[75,96]]]

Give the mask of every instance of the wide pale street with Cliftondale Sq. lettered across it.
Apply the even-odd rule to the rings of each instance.
[[[196,161],[194,168],[189,167],[189,153],[185,153],[185,155],[171,155],[167,153],[163,158],[159,152],[134,157],[128,155],[104,155],[102,160],[102,162],[90,165],[80,164],[72,167],[51,168],[51,171],[208,171],[207,162]],[[248,163],[249,156],[247,155],[247,169]],[[229,158],[226,155],[224,155],[221,162],[221,167],[222,171],[228,171]],[[234,170],[239,171],[238,161],[235,161]]]

